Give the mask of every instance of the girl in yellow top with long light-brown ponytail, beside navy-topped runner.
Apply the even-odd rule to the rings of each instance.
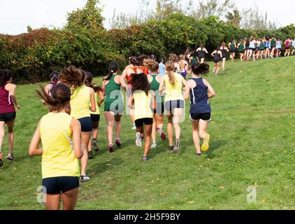
[[[168,61],[166,63],[166,75],[161,80],[159,86],[160,94],[165,92],[165,113],[168,116],[167,133],[169,139],[169,150],[173,153],[179,152],[180,146],[180,118],[185,109],[185,101],[182,94],[182,86],[187,82],[180,74],[174,72],[174,63]],[[176,144],[173,146],[173,126],[175,130]]]

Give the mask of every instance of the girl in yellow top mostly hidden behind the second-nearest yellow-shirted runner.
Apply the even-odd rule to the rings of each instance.
[[[99,107],[104,101],[104,96],[103,96],[103,89],[100,86],[93,84],[93,75],[90,72],[85,73],[85,85],[87,87],[91,87],[94,90],[95,106],[96,106],[95,112],[89,111],[91,120],[92,120],[92,141],[90,139],[88,144],[88,158],[92,159],[93,158],[92,146],[94,148],[94,151],[96,152],[99,151],[99,146],[97,145],[97,137],[99,136],[99,120],[101,119],[101,113],[100,113]]]

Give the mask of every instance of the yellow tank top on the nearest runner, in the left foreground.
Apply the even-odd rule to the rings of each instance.
[[[72,148],[72,119],[67,113],[48,113],[41,119],[42,179],[80,176],[78,159]]]

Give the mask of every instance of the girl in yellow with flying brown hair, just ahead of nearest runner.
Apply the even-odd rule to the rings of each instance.
[[[79,120],[81,124],[81,144],[82,149],[88,148],[89,141],[92,133],[92,120],[89,113],[90,111],[96,112],[95,94],[94,90],[85,85],[85,71],[69,66],[62,70],[59,75],[62,83],[71,87],[73,92],[71,96],[71,116]],[[84,153],[81,159],[81,176],[80,181],[85,183],[89,181],[87,172],[88,153]]]

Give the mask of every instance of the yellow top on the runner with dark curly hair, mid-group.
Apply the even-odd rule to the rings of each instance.
[[[136,91],[134,95],[134,120],[141,118],[153,118],[152,109],[152,94],[145,94],[144,91]]]

